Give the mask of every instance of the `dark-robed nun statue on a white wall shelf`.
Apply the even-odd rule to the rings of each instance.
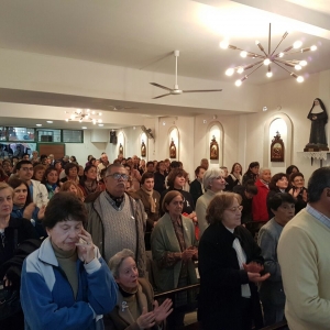
[[[309,142],[304,151],[328,151],[326,136],[326,124],[328,122],[328,113],[323,102],[316,98],[307,118],[311,121]]]

